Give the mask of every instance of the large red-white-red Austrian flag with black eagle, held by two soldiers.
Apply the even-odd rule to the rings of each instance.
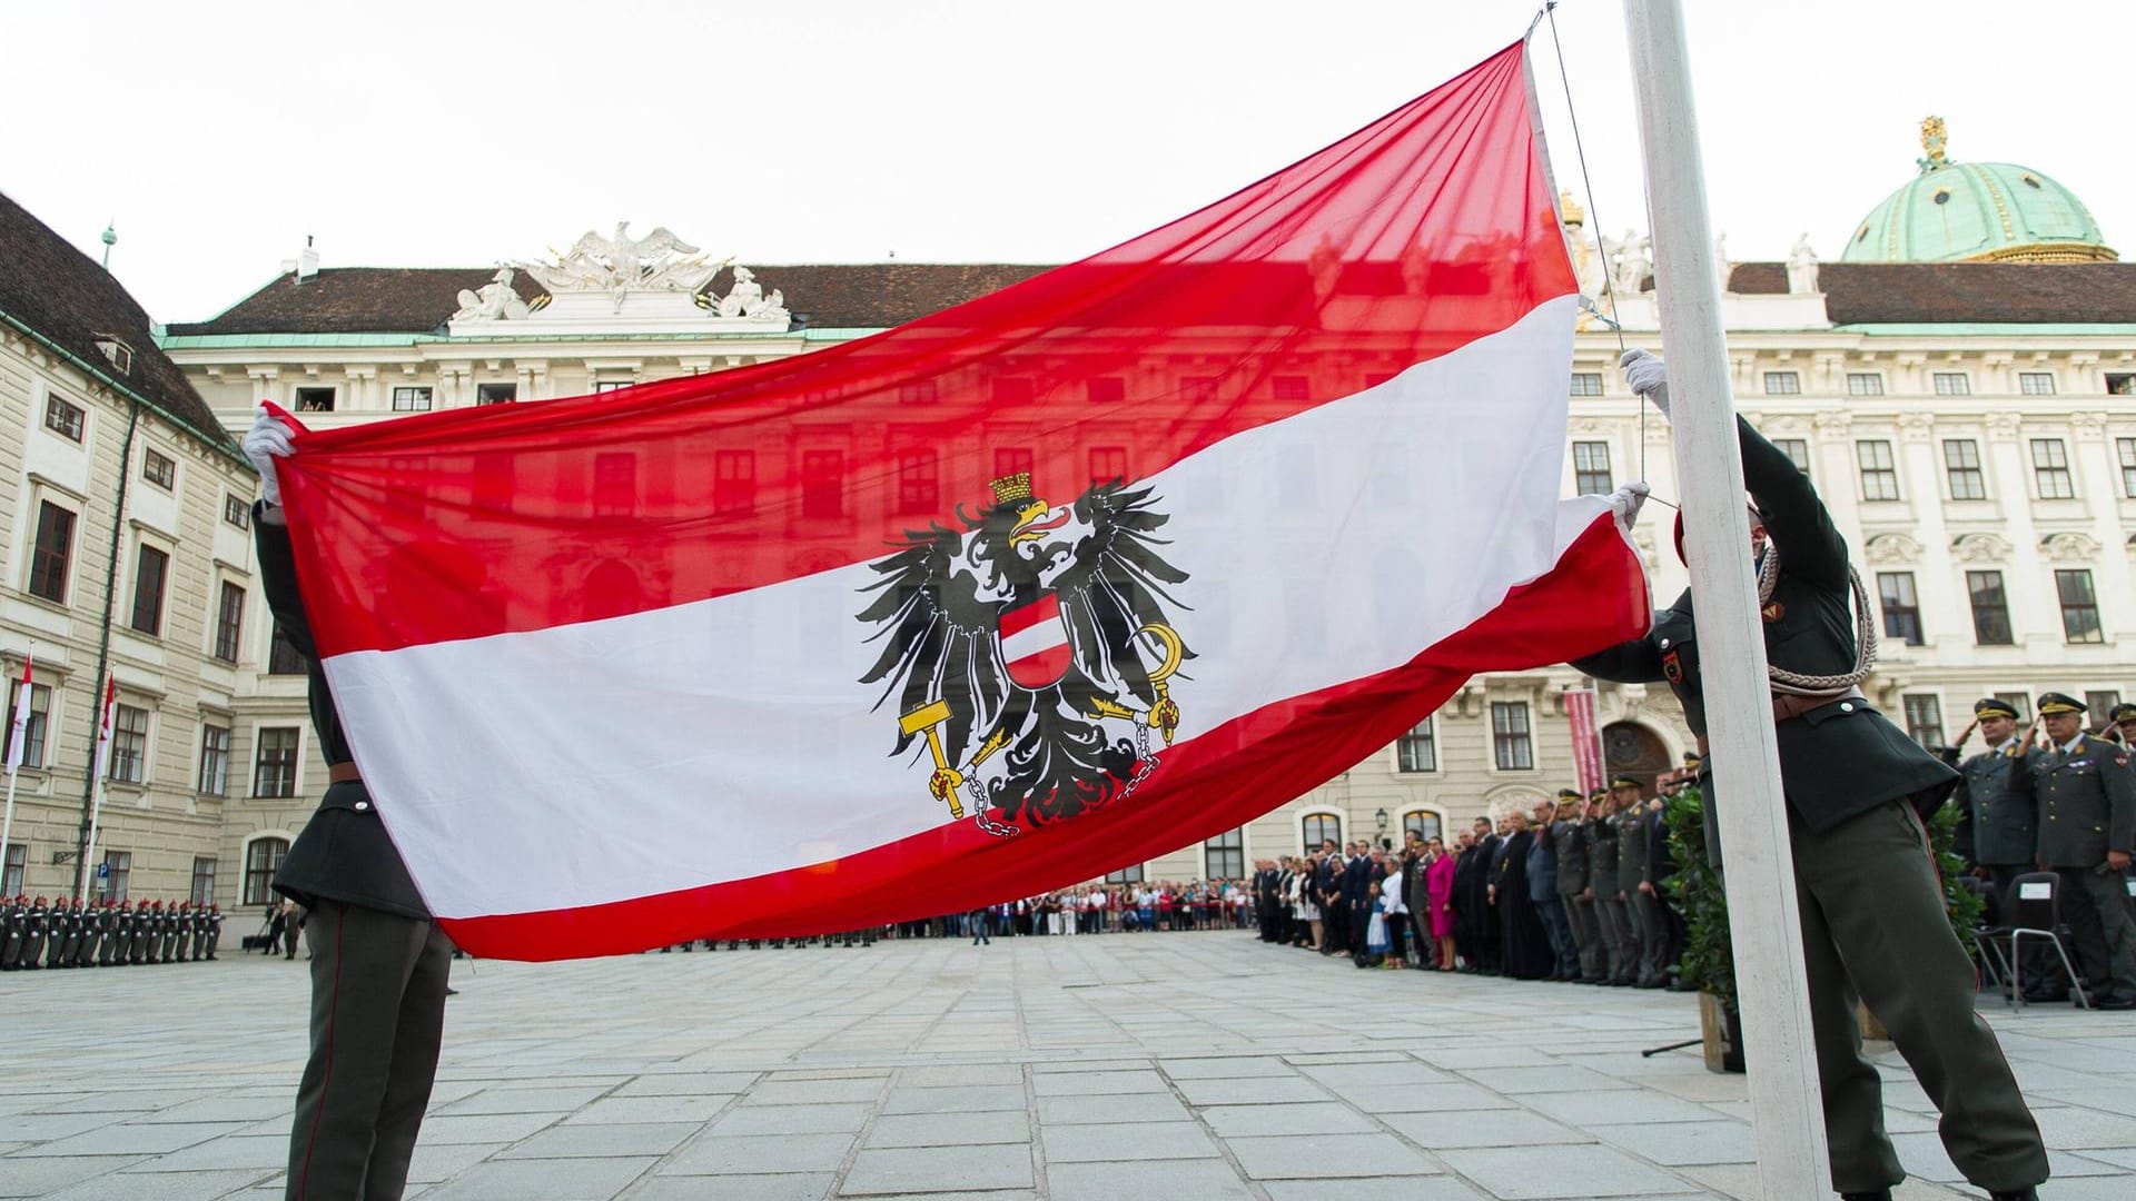
[[[431,910],[549,960],[1030,895],[1638,635],[1608,504],[1557,494],[1538,147],[1514,45],[874,338],[303,432],[305,607]]]

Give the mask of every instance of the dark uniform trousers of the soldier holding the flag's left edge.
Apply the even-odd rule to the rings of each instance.
[[[397,1201],[438,1075],[453,942],[436,921],[320,900],[312,1058],[297,1086],[288,1201]]]

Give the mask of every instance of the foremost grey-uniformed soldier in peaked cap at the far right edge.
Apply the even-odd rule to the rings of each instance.
[[[2136,769],[2130,750],[2085,733],[2085,703],[2042,692],[2033,705],[2046,748],[2025,763],[2040,806],[2040,868],[2061,876],[2055,900],[2076,942],[2095,1009],[2136,1009]]]

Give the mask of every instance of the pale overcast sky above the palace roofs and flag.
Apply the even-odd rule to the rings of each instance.
[[[2023,162],[2136,259],[2106,0],[1692,2],[1730,259],[1826,259],[1914,173]],[[327,267],[489,265],[617,218],[741,263],[1074,259],[1326,145],[1514,41],[1523,0],[6,4],[0,190],[158,321]],[[1647,227],[1611,0],[1557,13],[1600,224]],[[1579,173],[1549,26],[1559,186]],[[2098,49],[2087,49],[2098,47]],[[4,250],[4,248],[0,248]],[[775,284],[775,280],[773,280]],[[795,297],[805,306],[807,297]]]

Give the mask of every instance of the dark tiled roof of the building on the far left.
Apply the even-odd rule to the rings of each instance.
[[[190,425],[218,451],[239,453],[177,363],[156,348],[147,312],[132,295],[6,194],[0,194],[0,312]],[[122,372],[105,357],[98,338],[124,342],[130,368]]]

